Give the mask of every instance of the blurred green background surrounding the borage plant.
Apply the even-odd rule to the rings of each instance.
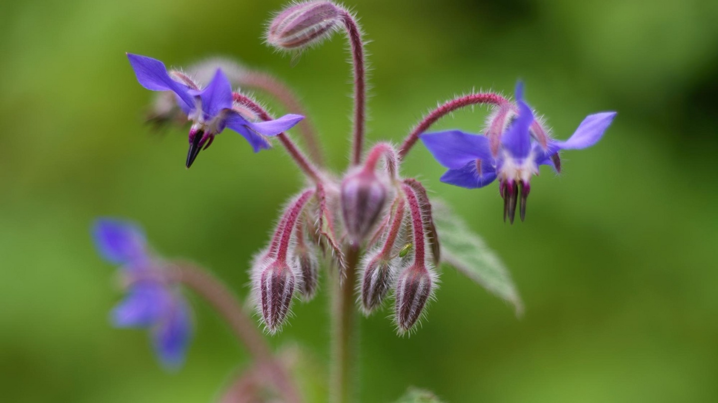
[[[281,148],[220,136],[191,170],[186,130],[152,136],[151,93],[124,52],[186,65],[230,55],[292,83],[335,169],[348,161],[342,37],[291,58],[261,41],[284,1],[0,3],[0,400],[210,402],[246,351],[197,298],[185,367],[167,374],[140,331],[116,330],[114,268],[93,250],[101,215],[144,224],[168,257],[210,267],[242,296],[247,262],[302,181]],[[437,101],[472,88],[529,103],[567,138],[617,110],[564,174],[532,182],[526,222],[501,219],[497,187],[439,182],[417,147],[404,166],[505,260],[526,304],[445,270],[410,338],[388,312],[361,320],[360,396],[409,385],[449,402],[718,401],[718,1],[348,1],[373,67],[370,141],[400,141]],[[279,110],[279,108],[275,108]],[[434,128],[477,131],[485,110]],[[327,361],[327,286],[276,346]],[[321,401],[318,399],[317,401]]]

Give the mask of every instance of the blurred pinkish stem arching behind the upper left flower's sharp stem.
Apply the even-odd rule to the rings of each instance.
[[[292,113],[299,113],[304,115],[304,120],[299,122],[297,128],[304,136],[304,140],[307,141],[307,148],[309,148],[309,155],[312,156],[312,160],[318,166],[324,165],[324,156],[322,155],[322,148],[319,140],[317,139],[317,130],[312,125],[307,113],[302,107],[302,103],[297,99],[297,95],[286,85],[276,77],[269,75],[265,72],[256,72],[251,70],[243,71],[242,74],[237,77],[237,83],[241,86],[253,87],[258,90],[264,90],[269,95],[276,98],[279,103],[283,104],[286,110]]]

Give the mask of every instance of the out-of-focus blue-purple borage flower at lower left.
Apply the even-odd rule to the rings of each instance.
[[[159,361],[176,369],[185,361],[192,336],[190,308],[164,275],[162,262],[149,254],[141,230],[115,219],[99,219],[93,237],[100,255],[121,265],[127,294],[112,311],[120,328],[149,329]]]

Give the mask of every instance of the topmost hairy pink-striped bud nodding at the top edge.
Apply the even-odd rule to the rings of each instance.
[[[267,42],[279,49],[302,49],[330,37],[342,22],[331,1],[308,1],[281,11],[269,25]]]

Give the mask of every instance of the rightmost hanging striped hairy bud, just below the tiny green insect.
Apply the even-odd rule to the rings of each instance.
[[[412,265],[396,281],[395,320],[399,333],[409,331],[421,317],[424,305],[432,295],[434,280],[426,267]]]

